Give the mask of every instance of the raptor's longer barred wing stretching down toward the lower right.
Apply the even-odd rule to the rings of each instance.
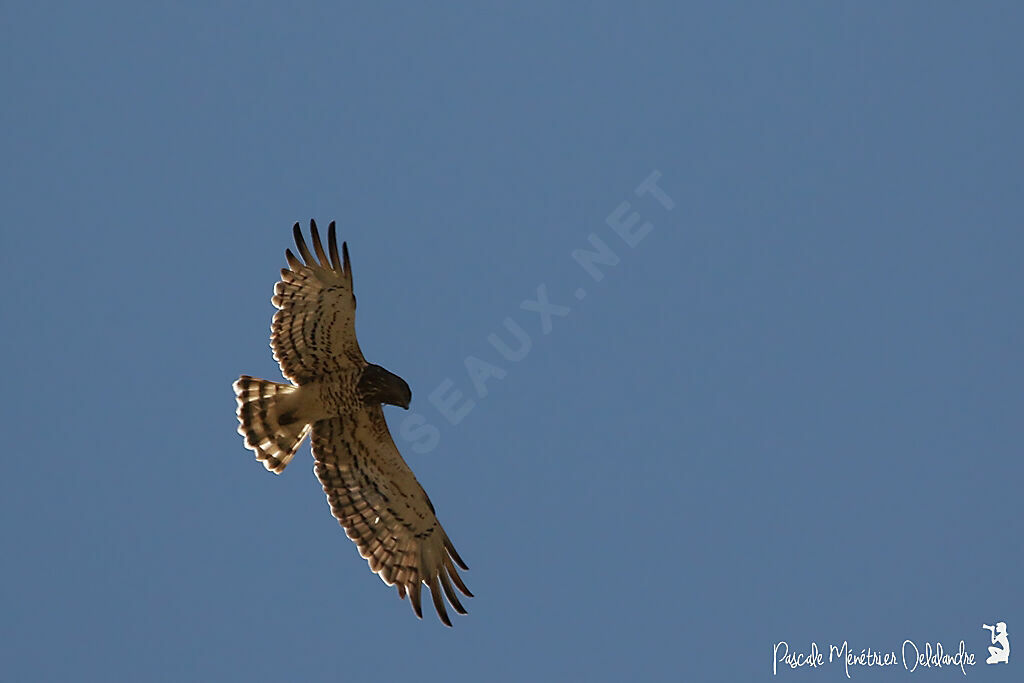
[[[452,588],[473,597],[455,564],[468,569],[459,557],[434,507],[413,471],[395,447],[379,405],[357,415],[313,424],[315,472],[331,503],[331,512],[359,555],[398,596],[409,593],[416,615],[423,617],[422,585],[430,588],[434,608],[452,626],[441,590],[460,614],[466,609]]]

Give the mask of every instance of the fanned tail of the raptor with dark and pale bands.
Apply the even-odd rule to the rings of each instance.
[[[312,426],[296,417],[299,387],[243,375],[234,382],[239,433],[246,447],[271,472],[281,474]]]

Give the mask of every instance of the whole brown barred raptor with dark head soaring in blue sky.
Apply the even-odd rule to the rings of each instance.
[[[240,377],[234,382],[239,433],[276,474],[311,433],[313,471],[359,555],[400,598],[409,594],[420,618],[420,590],[427,586],[438,617],[452,626],[441,591],[465,614],[452,586],[473,597],[455,565],[469,567],[398,453],[381,409],[388,403],[408,410],[412,391],[403,379],[362,357],[348,246],[342,243],[339,257],[334,222],[325,252],[316,223],[309,221],[315,256],[298,223],[293,231],[299,256],[285,251],[289,267],[282,268],[270,299],[280,309],[270,346],[291,383]]]

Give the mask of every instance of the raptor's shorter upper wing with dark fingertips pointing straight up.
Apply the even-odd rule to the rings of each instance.
[[[342,243],[338,257],[334,221],[328,227],[330,259],[324,252],[315,221],[309,221],[313,250],[309,252],[296,223],[295,246],[300,260],[285,251],[288,268],[270,302],[280,308],[270,326],[270,346],[281,372],[296,384],[304,384],[351,366],[366,364],[355,339],[355,295],[348,246]]]

